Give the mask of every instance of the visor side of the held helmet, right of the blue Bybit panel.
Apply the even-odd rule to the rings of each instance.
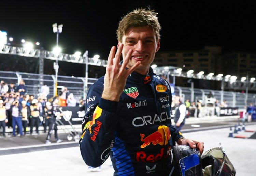
[[[228,159],[222,146],[212,148],[202,155],[202,167],[205,175],[236,175],[236,170]]]

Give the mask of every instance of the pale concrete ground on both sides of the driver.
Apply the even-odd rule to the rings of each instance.
[[[195,124],[193,122],[192,124]],[[256,124],[246,125],[246,130],[256,130]],[[197,132],[184,132],[186,138],[192,138],[204,142],[207,151],[218,147],[222,143],[223,148],[238,176],[250,176],[256,173],[256,152],[254,150],[256,139],[229,138],[228,127]],[[252,132],[239,132],[238,135],[250,137]],[[63,136],[62,136],[63,135]],[[64,134],[60,134],[60,138]],[[31,139],[30,139],[31,138]],[[8,141],[11,142],[9,143]],[[0,138],[0,168],[1,176],[94,176],[113,175],[111,161],[108,159],[100,172],[89,172],[85,165],[77,142],[63,141],[62,143],[43,144],[45,135]],[[22,142],[23,141],[23,142]],[[25,145],[30,141],[29,145]],[[31,142],[32,141],[32,142]],[[2,145],[9,143],[9,146]],[[13,145],[11,145],[11,143]],[[17,146],[14,144],[23,145]],[[34,144],[35,145],[31,145]],[[20,153],[24,152],[24,153]]]

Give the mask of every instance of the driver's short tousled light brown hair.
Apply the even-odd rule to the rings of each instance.
[[[122,42],[122,37],[130,27],[152,27],[156,39],[160,39],[161,26],[157,18],[157,14],[154,10],[136,9],[125,15],[121,21],[119,21],[118,29],[116,31],[117,40]]]

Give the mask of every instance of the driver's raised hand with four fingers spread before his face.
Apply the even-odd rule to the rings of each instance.
[[[119,101],[120,95],[124,90],[127,77],[141,63],[138,61],[131,68],[127,70],[125,69],[133,52],[132,49],[130,49],[126,57],[123,59],[123,64],[120,65],[119,62],[123,46],[123,44],[119,45],[116,54],[116,47],[113,46],[109,53],[108,65],[106,67],[106,74],[104,78],[104,90],[102,93],[102,98],[107,100]]]

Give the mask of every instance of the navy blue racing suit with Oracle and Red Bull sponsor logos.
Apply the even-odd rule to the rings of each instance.
[[[169,175],[170,150],[182,134],[171,124],[169,84],[153,73],[128,76],[119,102],[101,98],[104,77],[90,88],[80,150],[98,167],[111,157],[114,175]],[[113,90],[115,91],[115,90]]]

